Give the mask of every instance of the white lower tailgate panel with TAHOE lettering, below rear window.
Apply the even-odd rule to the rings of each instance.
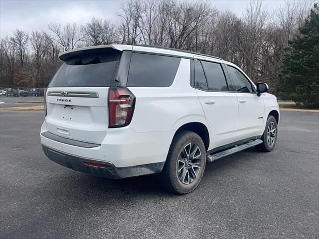
[[[108,89],[48,88],[48,131],[66,138],[100,144],[108,129]]]

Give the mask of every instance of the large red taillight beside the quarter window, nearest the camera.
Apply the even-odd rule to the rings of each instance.
[[[135,96],[128,88],[109,88],[109,128],[130,124]]]

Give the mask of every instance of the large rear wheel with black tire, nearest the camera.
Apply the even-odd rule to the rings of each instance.
[[[185,150],[188,150],[188,148],[189,156],[181,157],[181,155],[184,155],[184,152],[186,152]],[[192,157],[191,155],[193,152],[195,153]],[[185,167],[182,166],[181,158],[184,160],[183,162]],[[175,194],[180,195],[189,193],[198,186],[203,176],[205,165],[206,149],[201,137],[192,131],[181,131],[174,136],[162,172],[158,175],[160,184],[165,189]],[[198,169],[197,166],[200,166],[200,168]],[[187,170],[188,183],[186,176]],[[178,171],[180,173],[178,173]],[[180,179],[179,177],[183,177],[184,171],[186,172],[184,179]]]

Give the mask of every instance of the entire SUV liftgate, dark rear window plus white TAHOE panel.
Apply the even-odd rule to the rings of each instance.
[[[53,134],[101,143],[108,129],[108,89],[121,52],[85,51],[68,58],[46,92],[46,127]]]

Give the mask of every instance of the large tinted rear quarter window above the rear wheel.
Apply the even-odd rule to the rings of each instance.
[[[179,62],[177,57],[132,53],[127,86],[170,86]]]

